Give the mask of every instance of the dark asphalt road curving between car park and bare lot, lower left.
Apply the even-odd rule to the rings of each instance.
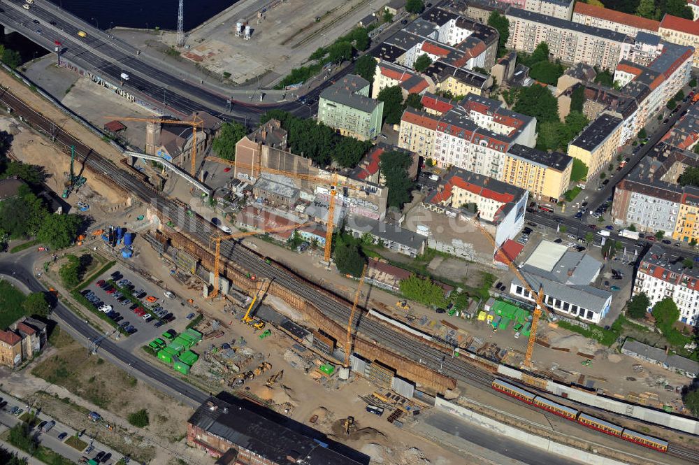
[[[13,276],[26,285],[31,292],[45,292],[41,282],[36,280],[31,264],[34,263],[34,252],[19,254],[3,254],[0,257],[0,275]],[[76,341],[88,347],[90,341],[96,341],[102,336],[99,331],[87,324],[85,320],[75,315],[62,303],[58,303],[53,309],[52,320],[56,320],[62,329],[66,330]],[[127,350],[106,338],[99,343],[98,353],[101,357],[114,362],[140,380],[149,382],[159,390],[166,390],[173,394],[175,399],[182,400],[191,406],[199,406],[208,398],[208,394],[199,391],[187,382],[161,371],[156,366],[139,359]]]

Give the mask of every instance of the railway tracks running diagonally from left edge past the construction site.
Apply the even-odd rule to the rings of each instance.
[[[214,228],[201,217],[187,215],[186,207],[182,202],[166,199],[155,189],[138,180],[136,176],[103,158],[92,148],[58,127],[8,90],[0,91],[0,103],[12,108],[34,128],[51,136],[55,141],[64,145],[64,148],[67,149],[74,145],[76,157],[84,166],[106,176],[122,189],[137,196],[140,201],[149,203],[161,214],[169,217],[185,234],[189,234],[203,245],[208,245],[210,236],[215,232]],[[331,294],[328,290],[318,287],[301,276],[296,276],[291,271],[266,263],[256,252],[245,248],[240,243],[222,243],[221,251],[222,255],[229,261],[240,264],[258,276],[273,278],[280,285],[293,289],[296,294],[317,306],[319,310],[326,313],[338,324],[343,326],[347,324],[351,303],[346,299]],[[452,358],[451,354],[436,348],[426,346],[424,341],[417,341],[417,339],[398,333],[398,331],[385,327],[379,322],[369,320],[366,318],[366,309],[354,317],[353,325],[356,327],[357,334],[377,341],[383,347],[422,364],[426,369],[438,371],[457,380],[488,389],[495,378],[492,373],[484,369],[463,362],[459,358]],[[699,463],[699,451],[696,450],[670,444],[668,454]]]

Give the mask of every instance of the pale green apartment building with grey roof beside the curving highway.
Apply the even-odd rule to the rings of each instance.
[[[381,132],[384,103],[369,97],[369,82],[348,74],[320,94],[318,121],[366,141]]]

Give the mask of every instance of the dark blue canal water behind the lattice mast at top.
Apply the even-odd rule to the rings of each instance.
[[[50,0],[100,29],[136,27],[177,29],[178,0]],[[185,0],[185,31],[238,0]]]

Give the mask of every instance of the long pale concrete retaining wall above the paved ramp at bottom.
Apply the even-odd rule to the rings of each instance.
[[[500,423],[492,418],[475,413],[472,410],[458,406],[455,403],[446,401],[440,397],[437,398],[435,406],[440,410],[456,415],[457,417],[461,418],[461,420],[476,424],[479,427],[491,429],[497,434],[502,434],[503,436],[521,441],[538,449],[546,450],[552,454],[561,455],[563,457],[575,457],[575,459],[579,462],[589,465],[625,465],[625,462],[608,459],[607,457],[600,457],[599,455],[586,452],[585,450],[571,448],[568,445],[555,443],[554,441],[536,436],[535,434],[521,431],[521,429]]]

